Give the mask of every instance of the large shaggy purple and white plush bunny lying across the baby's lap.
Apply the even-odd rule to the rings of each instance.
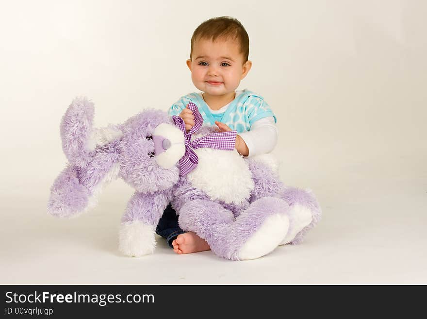
[[[50,214],[72,217],[96,204],[106,183],[121,177],[135,188],[121,220],[119,250],[152,253],[155,228],[171,202],[180,226],[204,238],[218,256],[261,257],[281,244],[295,244],[320,220],[310,191],[286,187],[270,155],[251,159],[236,150],[192,150],[196,168],[180,174],[186,134],[164,112],[148,109],[120,125],[93,128],[94,105],[76,98],[61,122],[69,165],[51,187]],[[191,140],[213,132],[202,127]],[[190,140],[190,137],[188,137]]]

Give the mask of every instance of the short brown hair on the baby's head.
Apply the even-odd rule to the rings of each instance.
[[[201,23],[191,37],[190,59],[195,41],[199,39],[215,41],[217,38],[239,41],[240,52],[243,54],[244,62],[247,61],[249,57],[249,36],[242,23],[233,17],[214,17]]]

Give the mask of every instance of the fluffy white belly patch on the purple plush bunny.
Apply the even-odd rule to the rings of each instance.
[[[194,187],[203,190],[212,200],[226,203],[239,204],[249,198],[254,188],[252,173],[236,150],[200,148],[195,152],[197,168],[187,175]]]

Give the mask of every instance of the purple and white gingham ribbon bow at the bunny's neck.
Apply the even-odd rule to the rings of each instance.
[[[181,175],[187,175],[197,167],[198,157],[193,149],[201,147],[210,147],[217,150],[234,150],[236,144],[237,131],[212,133],[191,141],[191,135],[196,133],[203,124],[203,117],[198,112],[197,105],[190,102],[187,106],[193,111],[194,126],[187,133],[185,130],[184,120],[178,116],[173,116],[172,119],[175,125],[184,133],[185,154],[180,159]]]

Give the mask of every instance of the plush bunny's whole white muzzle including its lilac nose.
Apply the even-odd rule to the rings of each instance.
[[[173,168],[185,154],[184,134],[174,125],[158,125],[153,141],[156,163],[162,168]]]

